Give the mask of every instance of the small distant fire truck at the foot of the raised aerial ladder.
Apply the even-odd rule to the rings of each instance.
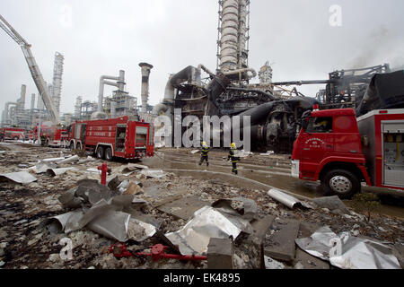
[[[40,141],[42,145],[52,147],[64,147],[68,143],[68,134],[66,129],[57,126],[40,126]],[[38,139],[38,126],[33,130],[33,140]]]

